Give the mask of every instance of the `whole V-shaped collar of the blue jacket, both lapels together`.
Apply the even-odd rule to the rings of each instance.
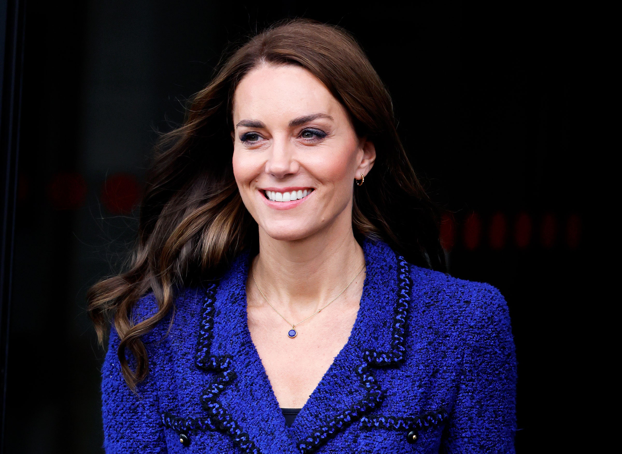
[[[202,405],[212,430],[230,435],[242,452],[314,452],[381,406],[373,369],[403,360],[411,279],[406,261],[386,244],[366,241],[363,250],[366,278],[350,338],[291,428],[246,324],[248,253],[206,289],[195,365],[213,374]]]

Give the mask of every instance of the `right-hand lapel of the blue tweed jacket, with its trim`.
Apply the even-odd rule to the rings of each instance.
[[[292,425],[302,453],[315,452],[364,415],[377,412],[388,390],[381,389],[374,369],[395,366],[403,358],[407,311],[398,309],[409,301],[406,262],[400,263],[384,243],[367,241],[364,253],[363,296],[350,338]],[[349,434],[343,436],[356,436]]]

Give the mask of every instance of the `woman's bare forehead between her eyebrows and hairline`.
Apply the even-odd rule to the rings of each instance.
[[[310,71],[295,65],[264,64],[251,70],[233,96],[234,124],[240,119],[292,118],[325,113],[346,116],[340,102]]]

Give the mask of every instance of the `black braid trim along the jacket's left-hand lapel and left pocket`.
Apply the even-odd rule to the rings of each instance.
[[[216,284],[211,284],[205,289],[205,297],[201,307],[197,352],[195,355],[195,365],[197,368],[218,373],[214,381],[203,391],[200,399],[201,406],[208,412],[208,417],[207,419],[183,419],[170,414],[170,412],[166,412],[162,415],[162,422],[165,427],[177,430],[179,434],[185,435],[189,435],[192,430],[223,432],[223,434],[227,434],[231,437],[233,444],[236,445],[243,454],[261,454],[259,448],[256,447],[249,435],[239,427],[239,424],[233,419],[233,416],[226,412],[217,400],[218,396],[220,396],[225,388],[236,379],[236,374],[231,370],[233,366],[231,356],[211,355],[215,301]]]

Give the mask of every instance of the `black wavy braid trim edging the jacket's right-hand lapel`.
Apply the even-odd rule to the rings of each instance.
[[[397,257],[399,263],[397,279],[399,293],[393,312],[393,328],[391,331],[391,352],[376,352],[364,350],[363,363],[358,366],[356,373],[361,378],[360,386],[367,389],[366,396],[356,402],[350,409],[341,412],[333,419],[313,430],[312,434],[298,442],[298,449],[302,454],[310,454],[325,445],[328,440],[345,430],[356,420],[363,420],[366,414],[378,409],[384,401],[384,393],[379,389],[376,379],[369,368],[397,366],[404,361],[404,340],[406,338],[406,321],[409,304],[411,302],[411,269],[404,257]]]

